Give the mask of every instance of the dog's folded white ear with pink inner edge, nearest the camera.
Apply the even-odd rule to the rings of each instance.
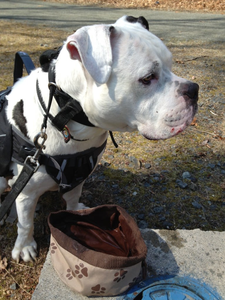
[[[78,59],[99,84],[109,79],[112,66],[110,34],[113,26],[94,25],[78,29],[67,38],[71,59]]]

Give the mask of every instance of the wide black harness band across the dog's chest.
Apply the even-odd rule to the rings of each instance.
[[[13,129],[13,158],[16,163],[23,164],[28,155],[33,156],[35,145],[27,139],[16,127]],[[55,180],[59,191],[66,193],[84,181],[94,170],[98,155],[105,149],[107,140],[95,148],[70,155],[50,156],[43,152],[38,157],[38,163],[44,165],[46,172]],[[22,145],[22,146],[21,146]]]

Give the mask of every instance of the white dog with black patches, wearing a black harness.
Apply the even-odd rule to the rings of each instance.
[[[66,170],[67,158],[79,153],[78,168],[82,170],[84,159],[84,165],[90,165],[91,173],[104,153],[108,131],[138,130],[149,140],[167,139],[182,132],[196,113],[199,87],[171,72],[171,53],[148,29],[148,22],[143,17],[123,16],[115,24],[85,26],[70,35],[58,57],[50,62],[50,67],[44,64],[18,80],[7,96],[7,118],[15,131],[22,132],[31,144],[40,132],[49,101],[49,69],[55,74],[53,84],[70,100],[79,102],[85,113],[81,116],[91,123],[84,125],[82,120],[70,119],[64,126],[62,122],[60,126],[66,131],[63,135],[61,129],[52,125],[52,118],[64,104],[60,107],[53,98],[43,153],[56,161],[59,155],[61,171]],[[39,98],[36,84],[41,93]],[[70,140],[67,141],[69,133]],[[15,161],[10,164],[13,175],[8,181],[10,186],[22,170],[22,165]],[[71,166],[76,170],[76,163]],[[51,164],[48,167],[41,165],[16,199],[18,236],[12,257],[17,261],[20,256],[25,262],[37,256],[33,238],[36,203],[47,190],[58,190],[58,184],[62,182],[61,173],[52,168]],[[85,208],[78,201],[88,174],[79,178],[79,172],[82,173],[79,171],[71,177],[70,171],[70,179],[66,184],[65,181],[61,183],[62,191],[67,191],[63,194],[67,209]],[[0,193],[6,187],[7,181],[1,177]]]

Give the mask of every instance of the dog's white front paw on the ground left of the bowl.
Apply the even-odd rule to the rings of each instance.
[[[19,258],[22,258],[25,262],[33,262],[36,261],[37,257],[37,243],[33,240],[29,245],[20,248],[14,247],[12,250],[12,258],[19,262]]]

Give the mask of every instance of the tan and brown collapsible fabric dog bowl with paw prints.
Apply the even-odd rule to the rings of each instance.
[[[72,290],[86,296],[118,295],[135,283],[147,247],[123,208],[58,211],[48,223],[52,264]]]

